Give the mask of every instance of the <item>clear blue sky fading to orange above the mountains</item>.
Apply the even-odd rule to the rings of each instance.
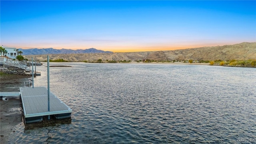
[[[256,1],[0,1],[0,45],[112,52],[256,42]]]

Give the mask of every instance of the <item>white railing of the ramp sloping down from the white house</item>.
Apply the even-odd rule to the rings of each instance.
[[[14,66],[17,68],[21,68],[23,70],[31,71],[30,68],[26,66],[24,62],[20,62],[18,60],[11,60],[3,57],[3,58],[0,58],[0,62],[9,66]]]

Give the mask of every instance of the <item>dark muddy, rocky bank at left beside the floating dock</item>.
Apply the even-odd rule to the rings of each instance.
[[[1,69],[0,91],[18,92],[20,87],[29,86],[32,76],[23,74],[8,74]],[[9,96],[8,100],[0,101],[0,143],[9,143],[9,138],[15,135],[15,126],[22,121],[22,104],[19,96]]]

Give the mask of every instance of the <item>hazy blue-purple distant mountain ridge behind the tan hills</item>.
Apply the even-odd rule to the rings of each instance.
[[[54,48],[30,48],[22,49],[19,48],[19,51],[22,51],[22,55],[39,55],[39,54],[85,54],[85,53],[112,53],[110,51],[97,50],[95,48],[89,48],[85,50],[71,50],[71,49],[54,49]]]

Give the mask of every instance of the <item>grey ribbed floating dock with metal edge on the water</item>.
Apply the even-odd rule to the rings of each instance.
[[[48,111],[48,90],[45,87],[20,88],[25,123],[41,122],[43,116],[54,115],[56,119],[70,118],[72,110],[50,92]]]

